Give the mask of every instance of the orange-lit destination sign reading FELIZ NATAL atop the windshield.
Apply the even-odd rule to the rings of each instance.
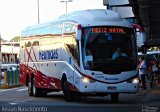
[[[102,28],[102,27],[94,27],[91,29],[92,33],[125,33],[124,28]]]

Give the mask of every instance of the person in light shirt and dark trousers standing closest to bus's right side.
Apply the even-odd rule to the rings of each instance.
[[[140,64],[139,64],[139,75],[141,76],[141,83],[143,89],[146,89],[146,76],[147,76],[147,63],[144,57],[139,58]]]

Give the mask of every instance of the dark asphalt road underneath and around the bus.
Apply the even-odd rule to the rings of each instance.
[[[140,90],[137,94],[120,94],[120,101],[113,103],[110,96],[82,97],[65,102],[62,92],[49,93],[46,97],[30,97],[26,87],[0,89],[2,112],[160,112],[160,87]],[[37,109],[37,110],[35,110]]]

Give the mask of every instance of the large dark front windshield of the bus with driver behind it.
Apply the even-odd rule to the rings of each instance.
[[[117,74],[136,70],[137,47],[134,31],[124,27],[85,27],[82,60],[86,70]]]

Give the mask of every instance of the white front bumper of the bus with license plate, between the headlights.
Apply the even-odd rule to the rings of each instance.
[[[81,83],[79,92],[81,93],[136,93],[139,90],[139,83],[122,82],[108,84],[102,82]]]

